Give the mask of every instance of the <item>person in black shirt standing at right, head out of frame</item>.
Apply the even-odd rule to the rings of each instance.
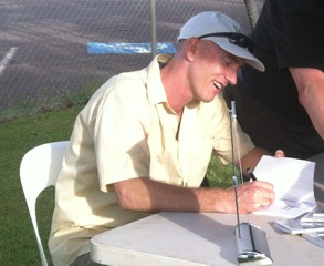
[[[244,65],[224,91],[257,146],[297,158],[324,152],[323,25],[323,0],[265,0],[251,35],[265,72]]]

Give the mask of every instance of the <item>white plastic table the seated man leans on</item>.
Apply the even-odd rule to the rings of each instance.
[[[241,215],[266,232],[275,266],[324,264],[324,249],[299,235],[283,234],[275,217]],[[238,265],[236,215],[159,213],[92,238],[91,257],[112,266]]]

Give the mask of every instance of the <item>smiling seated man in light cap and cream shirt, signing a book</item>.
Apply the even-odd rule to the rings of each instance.
[[[231,162],[230,121],[217,96],[244,62],[263,70],[237,22],[219,12],[191,18],[174,58],[108,80],[76,119],[56,184],[49,242],[55,265],[91,264],[95,234],[153,212],[234,213],[233,190],[200,188],[212,150]],[[238,126],[243,167],[266,151]],[[273,186],[238,188],[240,212],[270,205]]]

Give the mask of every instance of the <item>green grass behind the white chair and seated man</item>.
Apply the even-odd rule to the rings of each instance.
[[[41,265],[32,224],[19,180],[22,156],[32,147],[69,140],[82,106],[23,116],[0,124],[0,265]],[[36,170],[35,170],[36,171]],[[230,166],[212,158],[208,178],[212,186],[231,185]],[[38,202],[40,234],[46,247],[54,190],[44,191]],[[49,254],[48,254],[49,255]]]

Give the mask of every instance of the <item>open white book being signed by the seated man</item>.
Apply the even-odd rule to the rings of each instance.
[[[273,184],[275,201],[253,214],[294,218],[313,211],[316,207],[314,168],[315,163],[305,160],[262,156],[254,175]]]

